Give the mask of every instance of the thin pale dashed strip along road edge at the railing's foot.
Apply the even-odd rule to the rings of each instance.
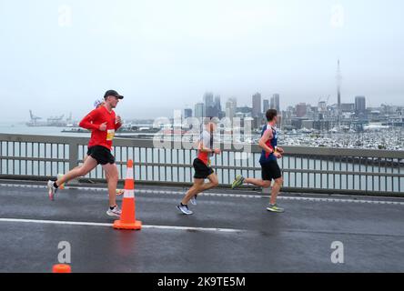
[[[22,187],[22,188],[45,188],[44,186],[38,185],[24,185],[24,184],[0,184],[0,186],[6,187]],[[79,190],[86,191],[96,191],[96,192],[106,192],[106,188],[97,187],[74,187]],[[67,186],[66,189],[69,189]],[[166,194],[166,195],[180,195],[184,196],[185,192],[181,191],[165,191],[165,190],[146,190],[146,189],[135,189],[135,193],[144,194]],[[224,193],[211,193],[205,192],[204,196],[219,196],[219,197],[237,197],[237,198],[268,198],[269,196],[258,196],[258,195],[242,195],[242,194],[224,194]],[[347,198],[318,198],[318,197],[300,197],[300,196],[278,196],[279,200],[292,200],[292,201],[310,201],[310,202],[339,202],[339,203],[368,203],[376,205],[396,205],[404,206],[404,202],[399,201],[388,201],[388,200],[366,200],[366,199],[347,199]]]

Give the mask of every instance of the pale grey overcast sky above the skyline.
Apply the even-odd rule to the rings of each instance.
[[[365,95],[404,105],[402,0],[0,0],[0,121],[76,119],[116,89],[124,118],[172,116],[205,92],[281,108]]]

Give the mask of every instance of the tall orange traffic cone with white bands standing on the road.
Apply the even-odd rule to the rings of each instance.
[[[133,179],[133,161],[127,161],[125,193],[122,201],[121,219],[114,222],[114,228],[141,229],[142,222],[136,220],[135,181]]]

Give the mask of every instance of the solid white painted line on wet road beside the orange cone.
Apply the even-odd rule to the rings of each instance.
[[[36,219],[17,219],[17,218],[0,218],[0,223],[1,222],[47,224],[47,225],[65,225],[65,226],[108,226],[108,227],[113,226],[112,224],[103,224],[103,223],[95,223],[95,222],[36,220]],[[246,232],[246,230],[242,230],[242,229],[206,228],[206,227],[188,227],[188,226],[142,226],[142,228],[168,229],[168,230],[191,230],[191,231],[207,231],[207,232],[224,232],[224,233]]]

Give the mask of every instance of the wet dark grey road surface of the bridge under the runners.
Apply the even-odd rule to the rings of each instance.
[[[44,184],[0,182],[0,272],[50,272],[61,241],[74,272],[404,272],[404,198],[282,194],[286,212],[273,214],[260,192],[217,188],[183,216],[186,190],[136,186],[144,227],[119,231],[105,187],[51,202]],[[331,261],[334,241],[343,264]]]

